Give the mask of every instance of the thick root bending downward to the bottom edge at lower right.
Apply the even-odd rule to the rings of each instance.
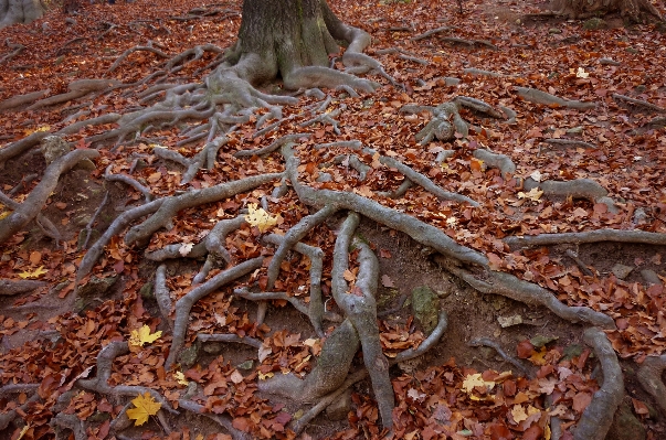
[[[588,329],[583,339],[592,346],[601,363],[603,384],[583,411],[573,431],[573,439],[603,440],[611,428],[615,410],[624,397],[624,378],[617,356],[603,331],[596,328]]]

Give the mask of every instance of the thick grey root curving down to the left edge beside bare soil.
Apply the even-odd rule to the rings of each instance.
[[[8,217],[0,221],[0,243],[7,242],[11,236],[21,230],[28,223],[38,216],[46,200],[51,196],[60,176],[70,171],[84,159],[98,158],[95,150],[74,150],[53,161],[44,171],[44,178],[35,189],[25,197],[21,206]]]

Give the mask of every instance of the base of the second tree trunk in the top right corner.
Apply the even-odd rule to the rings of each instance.
[[[550,9],[571,19],[620,12],[635,23],[663,20],[649,0],[553,0]]]

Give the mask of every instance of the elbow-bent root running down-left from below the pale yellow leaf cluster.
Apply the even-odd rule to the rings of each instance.
[[[173,322],[173,340],[171,342],[171,350],[169,351],[169,357],[165,363],[166,368],[170,368],[176,362],[176,358],[184,345],[186,333],[188,331],[188,323],[190,320],[190,310],[192,305],[203,297],[211,292],[220,289],[222,286],[243,277],[251,271],[258,269],[262,266],[264,258],[256,257],[247,261],[243,261],[237,266],[226,269],[203,285],[195,287],[190,290],[184,297],[180,298],[176,302],[176,319]]]

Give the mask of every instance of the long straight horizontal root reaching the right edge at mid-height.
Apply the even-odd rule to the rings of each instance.
[[[646,245],[666,245],[666,234],[648,233],[646,230],[596,229],[584,233],[540,234],[522,237],[506,237],[504,243],[511,248],[550,246],[565,243],[643,243]]]

